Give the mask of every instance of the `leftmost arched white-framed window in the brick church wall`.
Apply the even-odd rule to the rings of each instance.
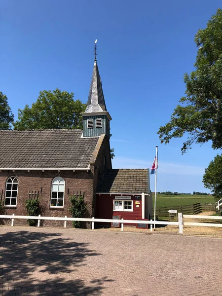
[[[5,206],[16,206],[18,195],[18,180],[15,177],[10,177],[6,181],[5,189]]]

